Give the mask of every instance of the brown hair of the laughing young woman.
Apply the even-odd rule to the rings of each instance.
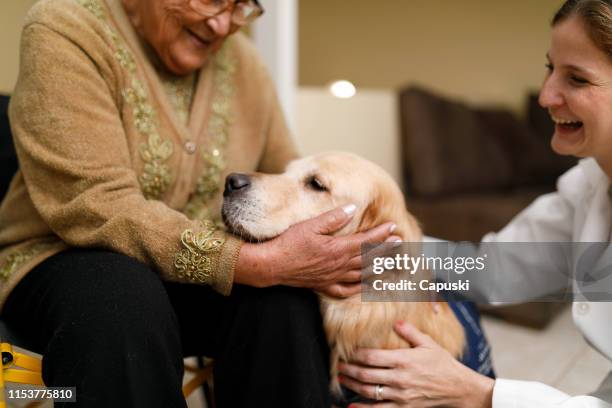
[[[573,16],[580,17],[591,40],[612,58],[612,0],[567,0],[552,25]]]

